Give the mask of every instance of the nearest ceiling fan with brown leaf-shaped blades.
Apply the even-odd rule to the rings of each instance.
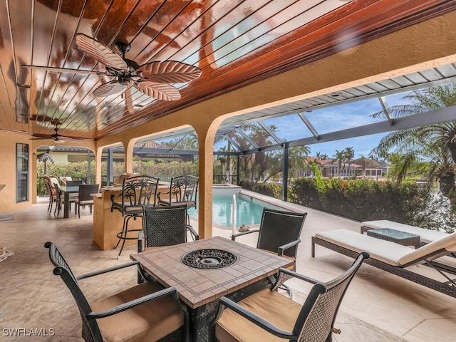
[[[105,72],[47,66],[24,67],[59,72],[89,73],[115,78],[113,81],[103,83],[93,90],[94,96],[105,97],[123,93],[130,86],[133,86],[141,93],[145,93],[152,98],[167,101],[180,99],[179,90],[175,86],[171,86],[170,83],[194,81],[202,73],[201,69],[195,66],[177,61],[154,61],[139,65],[135,61],[125,58],[125,54],[131,49],[128,43],[116,43],[120,53],[122,53],[122,57],[99,41],[83,33],[76,34],[76,44],[89,56],[105,65]]]

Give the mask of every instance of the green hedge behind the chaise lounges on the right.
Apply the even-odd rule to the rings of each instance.
[[[428,229],[455,230],[450,203],[415,183],[397,185],[375,180],[296,180],[289,188],[289,201],[357,221],[389,219]]]

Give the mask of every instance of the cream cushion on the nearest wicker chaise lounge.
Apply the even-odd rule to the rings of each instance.
[[[316,237],[350,249],[353,252],[368,252],[371,254],[372,259],[377,259],[393,266],[404,266],[415,262],[419,264],[424,257],[431,260],[448,254],[448,252],[456,252],[456,233],[447,234],[446,237],[418,249],[376,239],[375,237],[368,237],[347,229],[321,232],[316,234]],[[433,254],[440,250],[443,250],[441,254]]]

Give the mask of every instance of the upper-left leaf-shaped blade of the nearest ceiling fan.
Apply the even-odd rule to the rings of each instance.
[[[78,44],[81,50],[105,66],[128,71],[127,63],[125,63],[122,57],[118,56],[108,46],[104,46],[99,41],[95,41],[95,39],[83,33],[78,33],[76,34],[76,44]]]

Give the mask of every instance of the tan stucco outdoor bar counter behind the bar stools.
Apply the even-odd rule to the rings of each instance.
[[[160,182],[158,192],[166,192],[170,183]],[[100,193],[93,196],[93,241],[100,249],[113,249],[118,242],[117,233],[122,232],[123,217],[118,210],[111,212],[111,195],[122,193],[121,186],[101,187]],[[141,229],[141,219],[130,219],[128,230]],[[136,240],[125,240],[125,246],[137,244]]]

